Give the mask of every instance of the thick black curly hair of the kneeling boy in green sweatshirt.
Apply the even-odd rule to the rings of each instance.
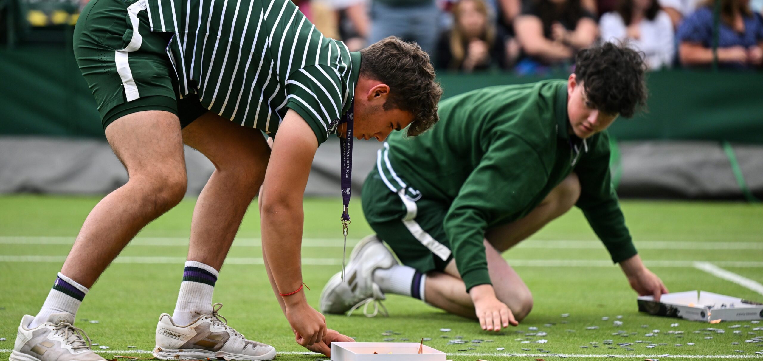
[[[588,100],[600,111],[625,118],[646,105],[645,70],[642,53],[624,43],[604,43],[575,56],[575,78]]]

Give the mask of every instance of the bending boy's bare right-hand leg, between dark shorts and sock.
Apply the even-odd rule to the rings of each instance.
[[[260,131],[211,112],[185,127],[182,134],[185,143],[215,167],[196,201],[188,260],[219,271],[265,178],[270,147]]]

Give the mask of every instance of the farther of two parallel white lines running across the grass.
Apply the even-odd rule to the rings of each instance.
[[[0,244],[71,245],[75,237],[0,237]],[[355,246],[359,240],[348,240],[348,246]],[[336,238],[304,238],[303,247],[343,247],[342,240]],[[670,240],[636,240],[639,250],[763,250],[763,242],[685,242]],[[237,238],[233,246],[260,247],[260,238]],[[132,246],[188,246],[186,237],[136,237]],[[526,240],[520,249],[567,249],[604,250],[599,240]]]

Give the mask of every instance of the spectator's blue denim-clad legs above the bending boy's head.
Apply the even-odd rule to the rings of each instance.
[[[441,11],[434,0],[372,0],[369,44],[394,35],[434,54]]]

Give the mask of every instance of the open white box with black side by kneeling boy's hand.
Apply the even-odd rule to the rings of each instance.
[[[667,293],[638,298],[639,311],[693,321],[749,321],[763,319],[763,304],[704,291]]]

